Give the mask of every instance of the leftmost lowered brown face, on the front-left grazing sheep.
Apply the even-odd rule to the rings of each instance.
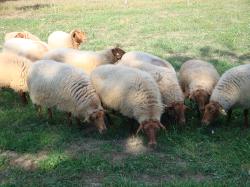
[[[107,128],[104,122],[104,112],[96,111],[90,115],[90,121],[97,127],[100,134],[106,132]]]

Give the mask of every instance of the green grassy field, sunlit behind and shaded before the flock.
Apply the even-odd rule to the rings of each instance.
[[[56,3],[53,3],[56,2]],[[54,30],[81,28],[85,50],[119,44],[170,61],[178,70],[190,58],[213,63],[220,73],[250,62],[249,0],[0,1],[0,48],[4,34],[28,30],[43,40]],[[187,103],[191,106],[190,103]],[[170,124],[158,148],[144,135],[131,137],[127,119],[96,131],[68,128],[55,111],[38,118],[31,102],[0,92],[1,186],[250,186],[250,130],[242,111],[221,117],[214,134],[187,112],[184,129]]]

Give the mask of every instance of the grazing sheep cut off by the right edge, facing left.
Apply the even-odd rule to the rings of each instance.
[[[215,86],[209,103],[205,106],[202,122],[205,125],[218,117],[219,113],[231,115],[234,108],[243,108],[244,126],[248,127],[250,108],[250,64],[227,70]]]

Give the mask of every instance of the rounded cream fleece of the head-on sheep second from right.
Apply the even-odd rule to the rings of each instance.
[[[188,60],[182,64],[179,71],[180,85],[185,95],[198,89],[211,94],[219,78],[215,67],[202,60]]]

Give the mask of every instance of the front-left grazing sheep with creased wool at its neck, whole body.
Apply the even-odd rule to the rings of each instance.
[[[67,112],[68,117],[72,114],[92,122],[100,133],[106,130],[100,98],[82,70],[52,60],[40,60],[32,64],[27,84],[35,105],[56,107]]]

